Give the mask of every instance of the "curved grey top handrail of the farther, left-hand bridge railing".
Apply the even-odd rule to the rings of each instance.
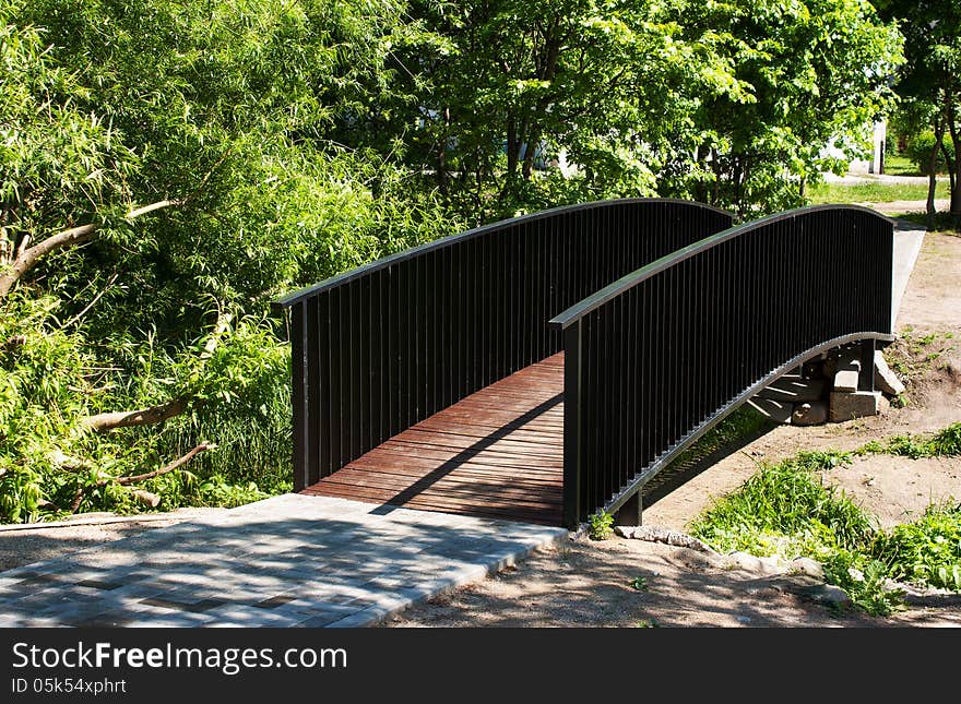
[[[456,235],[449,235],[447,237],[441,237],[440,239],[426,242],[424,244],[418,244],[417,247],[412,247],[402,252],[396,252],[394,254],[389,254],[388,256],[382,256],[381,259],[375,260],[372,262],[368,262],[367,264],[363,264],[355,269],[352,269],[347,272],[343,272],[341,274],[335,274],[329,278],[323,279],[322,282],[318,282],[317,284],[312,284],[305,288],[300,288],[298,290],[292,291],[277,298],[273,301],[272,307],[274,310],[280,311],[286,308],[289,308],[294,303],[297,303],[305,298],[313,296],[316,294],[320,294],[322,291],[329,290],[336,286],[342,286],[352,281],[360,278],[365,275],[371,274],[373,272],[388,269],[395,264],[399,264],[403,261],[412,259],[414,256],[418,256],[422,254],[426,254],[428,252],[436,251],[441,248],[452,247],[454,244],[464,242],[466,240],[473,239],[475,237],[480,237],[483,235],[490,235],[497,230],[506,230],[513,228],[518,225],[526,225],[530,223],[534,223],[536,220],[545,219],[548,217],[556,217],[558,215],[569,215],[572,213],[578,213],[580,211],[586,211],[592,208],[601,208],[601,207],[612,207],[617,205],[631,205],[631,204],[651,204],[651,203],[675,203],[683,204],[685,206],[690,207],[699,207],[705,211],[710,211],[716,213],[719,215],[724,215],[732,217],[731,213],[724,211],[720,207],[715,207],[713,205],[708,205],[707,203],[699,203],[697,201],[685,201],[683,199],[677,198],[625,198],[625,199],[615,199],[607,201],[591,201],[588,203],[577,203],[574,205],[561,205],[558,207],[551,207],[546,211],[538,211],[537,213],[530,213],[527,215],[520,215],[518,217],[511,217],[508,219],[497,220],[496,223],[488,223],[487,225],[482,225],[479,227],[475,227],[470,230],[465,230],[463,232],[459,232]]]

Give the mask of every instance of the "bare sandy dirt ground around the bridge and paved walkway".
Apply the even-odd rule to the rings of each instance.
[[[780,426],[645,506],[645,525],[684,530],[716,497],[757,468],[803,449],[853,449],[870,439],[936,430],[961,420],[961,238],[929,234],[898,318],[907,405],[881,416],[811,428]],[[933,334],[933,336],[932,336]],[[961,499],[961,460],[871,456],[826,473],[883,526],[932,501]],[[0,527],[0,570],[169,525],[187,510],[104,525]],[[82,520],[91,520],[84,516]],[[96,520],[95,516],[93,516]],[[107,518],[112,520],[112,518]],[[629,583],[637,577],[642,588]],[[685,548],[614,538],[565,541],[474,585],[392,617],[389,627],[961,627],[961,595],[912,599],[891,618],[830,608],[810,578]]]

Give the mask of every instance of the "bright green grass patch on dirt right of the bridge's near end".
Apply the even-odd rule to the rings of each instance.
[[[762,464],[740,489],[696,518],[689,530],[721,552],[819,560],[827,582],[875,616],[903,608],[903,592],[890,588],[890,580],[961,592],[961,504],[932,505],[916,521],[880,530],[874,516],[817,474],[868,452],[961,456],[961,423],[867,443],[856,453],[802,452],[774,465]]]

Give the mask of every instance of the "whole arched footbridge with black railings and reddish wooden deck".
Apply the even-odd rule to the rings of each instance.
[[[479,227],[274,303],[297,491],[576,527],[782,374],[892,337],[893,223],[664,199]]]

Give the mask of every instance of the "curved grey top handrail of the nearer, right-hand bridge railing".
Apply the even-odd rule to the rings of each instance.
[[[637,286],[641,282],[655,276],[656,274],[663,272],[671,266],[679,264],[686,259],[690,259],[709,250],[713,247],[717,247],[719,244],[726,242],[729,239],[735,237],[741,237],[755,230],[761,229],[774,223],[779,223],[781,220],[792,219],[802,215],[806,215],[808,213],[816,213],[818,211],[859,211],[864,213],[868,213],[879,220],[883,220],[890,223],[892,226],[894,225],[894,220],[890,217],[887,217],[875,210],[869,207],[865,207],[863,205],[852,205],[852,204],[820,204],[820,205],[808,205],[806,207],[797,207],[791,211],[784,211],[782,213],[775,213],[774,215],[769,215],[767,217],[759,218],[757,220],[751,220],[750,223],[744,223],[741,225],[737,225],[729,229],[717,232],[716,235],[712,235],[710,237],[705,237],[702,240],[699,240],[692,244],[689,244],[685,248],[681,248],[677,251],[671,252],[669,254],[665,254],[661,259],[651,262],[650,264],[638,269],[630,274],[625,274],[616,282],[612,282],[604,288],[591,294],[586,298],[578,301],[567,310],[561,311],[554,318],[548,321],[548,324],[554,325],[556,327],[565,329],[568,327],[571,323],[577,322],[588,313],[593,310],[596,310],[607,301],[616,298],[621,295],[626,290]]]

